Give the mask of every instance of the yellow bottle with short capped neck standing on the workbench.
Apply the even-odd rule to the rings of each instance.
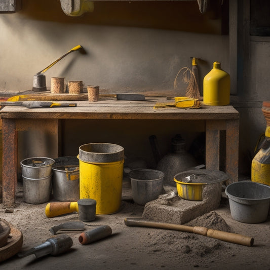
[[[230,76],[221,69],[219,62],[214,62],[213,69],[204,77],[204,104],[223,106],[229,104]]]

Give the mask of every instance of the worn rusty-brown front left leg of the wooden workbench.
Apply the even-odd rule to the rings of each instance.
[[[3,205],[6,208],[15,206],[17,185],[17,148],[18,135],[16,120],[3,119]]]

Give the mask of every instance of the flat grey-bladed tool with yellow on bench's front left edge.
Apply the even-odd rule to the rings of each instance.
[[[77,103],[58,103],[49,101],[4,101],[0,106],[22,106],[27,108],[76,107]]]

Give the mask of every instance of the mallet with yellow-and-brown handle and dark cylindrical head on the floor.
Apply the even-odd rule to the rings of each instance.
[[[96,200],[80,199],[78,202],[49,203],[45,208],[47,217],[55,217],[68,213],[78,212],[79,219],[85,222],[96,217]]]

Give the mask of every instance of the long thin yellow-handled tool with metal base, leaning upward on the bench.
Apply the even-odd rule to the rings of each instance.
[[[77,45],[74,48],[72,48],[71,50],[69,50],[67,53],[65,53],[64,55],[62,55],[61,57],[59,57],[57,60],[55,60],[53,63],[51,63],[49,66],[45,67],[43,70],[41,70],[40,72],[37,72],[34,75],[34,79],[33,79],[33,88],[32,90],[35,92],[42,92],[42,91],[46,91],[47,87],[46,87],[46,77],[43,74],[45,71],[47,71],[49,68],[51,68],[54,64],[56,64],[57,62],[59,62],[62,58],[64,58],[65,56],[67,56],[69,53],[72,53],[74,51],[78,51],[78,50],[83,50],[83,47],[81,45]]]

